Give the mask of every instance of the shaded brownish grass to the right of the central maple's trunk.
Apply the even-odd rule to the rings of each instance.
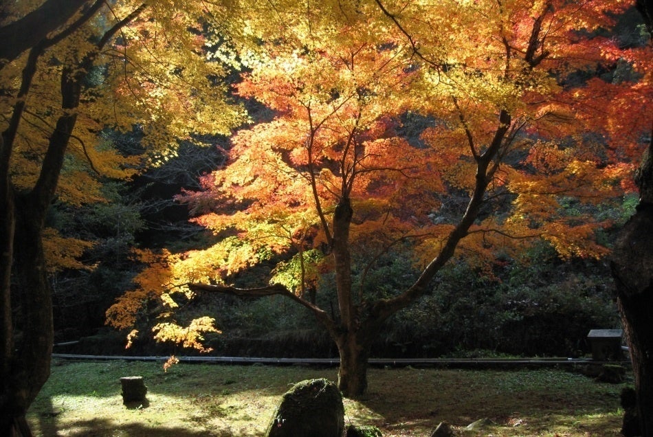
[[[489,418],[499,436],[619,436],[621,386],[549,370],[396,369],[370,372],[370,390],[356,402],[377,425],[395,424],[386,429],[432,431],[441,421],[465,427]]]

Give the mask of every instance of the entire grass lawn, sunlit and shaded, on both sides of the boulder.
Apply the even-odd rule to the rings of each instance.
[[[126,407],[120,377],[140,375],[146,405]],[[55,362],[32,405],[36,436],[263,436],[282,394],[333,368],[110,361]],[[345,399],[346,423],[384,436],[429,436],[441,421],[463,436],[619,436],[623,385],[565,370],[372,368],[362,399]],[[464,427],[480,418],[493,425]]]

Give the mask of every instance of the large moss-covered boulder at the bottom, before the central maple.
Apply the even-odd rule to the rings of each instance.
[[[267,437],[341,437],[342,394],[327,379],[296,383],[283,395],[267,426]]]

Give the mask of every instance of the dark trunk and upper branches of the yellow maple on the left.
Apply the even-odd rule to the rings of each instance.
[[[3,351],[0,363],[0,436],[31,436],[25,412],[49,377],[54,329],[52,296],[43,253],[43,226],[77,121],[82,83],[102,47],[120,28],[140,14],[146,5],[140,5],[107,30],[98,41],[97,49],[87,53],[78,65],[63,69],[60,91],[64,111],[49,137],[47,152],[34,188],[19,194],[14,193],[11,185],[9,163],[24,107],[23,98],[29,92],[36,62],[43,50],[78,30],[96,15],[104,3],[102,0],[47,0],[32,14],[0,27],[0,35],[7,36],[5,39],[8,41],[15,39],[16,42],[9,49],[1,50],[3,54],[0,58],[12,60],[33,47],[23,70],[19,93],[21,98],[17,99],[9,128],[0,138],[0,347]],[[74,23],[63,28],[56,36],[46,38],[47,34],[65,24],[85,4],[89,8],[85,8]],[[38,29],[35,24],[38,24]],[[4,61],[0,60],[0,69],[4,65]],[[13,290],[18,302],[12,302],[12,278],[18,285]],[[19,317],[12,319],[12,310],[16,309]],[[19,337],[16,333],[21,334],[19,341],[16,340]]]

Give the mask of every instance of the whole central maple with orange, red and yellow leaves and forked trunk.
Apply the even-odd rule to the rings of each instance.
[[[595,232],[608,223],[563,205],[617,198],[643,147],[648,76],[596,74],[620,59],[648,71],[641,50],[599,36],[626,2],[271,4],[243,19],[257,44],[234,50],[247,68],[236,93],[272,117],[234,135],[224,168],[180,197],[218,243],[144,254],[153,267],[109,309],[114,326],[133,327],[144,302],[162,300],[158,339],[192,334],[195,344],[215,328],[177,324],[175,293],[284,295],[328,331],[340,390],[356,396],[384,321],[450,260],[486,265],[538,239],[564,258],[607,253]],[[400,243],[421,276],[390,295],[363,293],[353,272]],[[280,260],[269,284],[230,285],[263,260]],[[337,313],[316,300],[333,288]]]

